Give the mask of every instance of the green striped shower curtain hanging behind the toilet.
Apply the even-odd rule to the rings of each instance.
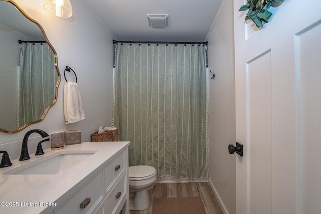
[[[158,179],[208,178],[206,45],[118,43],[114,125],[129,165]]]

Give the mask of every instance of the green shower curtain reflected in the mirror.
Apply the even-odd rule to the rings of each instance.
[[[17,126],[40,120],[55,99],[58,75],[47,43],[20,44]]]

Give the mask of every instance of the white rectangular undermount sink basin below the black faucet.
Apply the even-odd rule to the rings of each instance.
[[[61,151],[18,166],[3,174],[57,174],[85,161],[95,150]]]

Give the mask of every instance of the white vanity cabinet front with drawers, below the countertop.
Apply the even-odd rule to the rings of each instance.
[[[54,213],[129,214],[127,148],[110,159]]]

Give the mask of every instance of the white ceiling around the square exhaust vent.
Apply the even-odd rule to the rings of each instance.
[[[223,0],[84,0],[118,41],[204,42]],[[149,27],[146,14],[169,14]]]

